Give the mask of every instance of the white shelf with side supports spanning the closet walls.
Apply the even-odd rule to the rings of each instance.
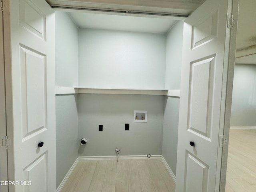
[[[180,90],[168,89],[132,89],[132,88],[94,88],[94,87],[56,87],[56,95],[60,94],[134,94],[134,95],[165,95],[180,96]]]

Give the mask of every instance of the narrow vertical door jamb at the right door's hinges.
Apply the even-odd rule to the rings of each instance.
[[[220,122],[224,124],[223,135],[226,138],[226,144],[222,149],[222,161],[220,170],[220,192],[225,192],[226,186],[226,172],[228,161],[228,140],[230,130],[230,115],[231,115],[231,103],[232,103],[232,91],[233,91],[233,79],[234,79],[234,66],[235,66],[235,54],[236,54],[236,33],[237,33],[237,20],[238,20],[238,5],[239,0],[233,0],[233,4],[229,5],[232,8],[232,15],[236,19],[234,26],[231,28],[230,34],[230,46],[228,51],[228,65],[224,66],[223,74],[226,74],[226,78],[223,79],[222,89],[225,90],[226,96],[222,97],[222,102],[225,103],[225,108],[222,108],[220,114]],[[220,130],[221,131],[221,130]]]

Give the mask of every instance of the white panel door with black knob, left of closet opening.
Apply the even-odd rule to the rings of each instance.
[[[54,192],[54,11],[44,0],[10,0],[10,22],[15,190]]]

